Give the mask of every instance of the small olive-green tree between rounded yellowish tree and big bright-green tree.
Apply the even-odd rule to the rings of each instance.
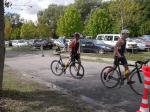
[[[37,33],[39,38],[48,38],[51,36],[51,29],[49,25],[39,24],[37,27]]]

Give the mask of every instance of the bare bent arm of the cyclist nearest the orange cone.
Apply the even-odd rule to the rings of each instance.
[[[121,54],[119,53],[118,49],[124,44],[124,41],[122,39],[119,39],[114,47],[114,56],[121,57]]]

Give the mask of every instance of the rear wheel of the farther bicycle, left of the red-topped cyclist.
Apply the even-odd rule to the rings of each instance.
[[[55,65],[56,64],[56,65]],[[54,67],[54,68],[53,68]],[[51,71],[54,75],[56,76],[60,76],[63,73],[63,67],[62,64],[58,61],[58,60],[54,60],[51,63]],[[58,72],[57,70],[59,70],[60,72]]]

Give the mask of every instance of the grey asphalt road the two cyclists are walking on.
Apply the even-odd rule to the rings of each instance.
[[[107,89],[100,81],[101,69],[108,65],[100,62],[82,61],[85,68],[83,79],[73,79],[69,72],[62,76],[54,76],[50,70],[50,63],[58,59],[57,56],[46,53],[41,57],[39,53],[6,52],[5,64],[19,70],[24,75],[40,79],[43,82],[54,83],[73,93],[86,96],[89,102],[96,102],[98,112],[135,112],[139,109],[141,97],[137,96],[128,85],[122,88]]]

